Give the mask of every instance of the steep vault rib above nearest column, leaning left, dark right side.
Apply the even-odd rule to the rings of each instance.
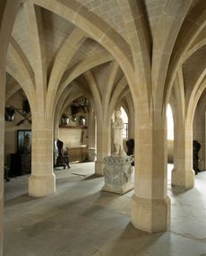
[[[147,101],[150,102],[151,93],[151,47],[150,25],[146,7],[143,1],[118,0],[124,18],[126,37],[133,54],[136,83],[144,84],[141,91],[145,91]]]

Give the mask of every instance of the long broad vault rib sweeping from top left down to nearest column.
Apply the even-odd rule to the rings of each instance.
[[[73,24],[88,33],[90,38],[99,41],[116,58],[119,65],[122,66],[124,73],[130,74],[127,79],[133,84],[133,61],[131,60],[130,46],[106,22],[101,20],[95,13],[89,12],[84,5],[74,0],[54,0],[52,2],[33,0],[33,2],[73,22]]]

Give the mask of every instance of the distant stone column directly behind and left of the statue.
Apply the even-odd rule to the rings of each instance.
[[[111,154],[111,124],[98,120],[97,122],[97,161],[95,162],[95,173],[104,175],[104,157]]]

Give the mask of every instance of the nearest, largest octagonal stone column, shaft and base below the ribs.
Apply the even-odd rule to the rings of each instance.
[[[136,124],[131,221],[136,228],[151,233],[166,231],[170,224],[166,143],[165,128],[158,120]]]

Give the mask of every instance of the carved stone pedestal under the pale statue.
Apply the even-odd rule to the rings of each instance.
[[[104,191],[124,194],[133,190],[133,155],[121,157],[107,156],[104,158],[105,186]]]

